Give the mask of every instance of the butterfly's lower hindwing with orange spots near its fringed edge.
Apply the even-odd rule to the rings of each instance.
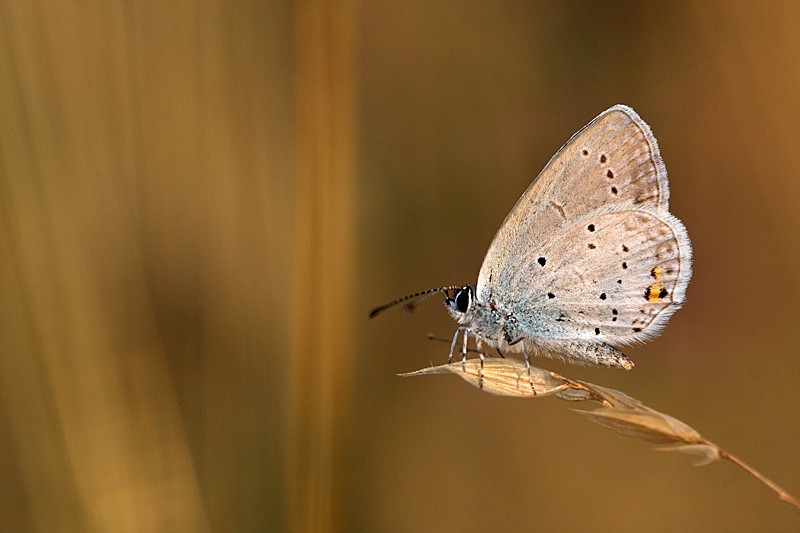
[[[657,335],[683,303],[691,245],[668,212],[601,208],[529,248],[494,294],[521,336],[623,345]]]

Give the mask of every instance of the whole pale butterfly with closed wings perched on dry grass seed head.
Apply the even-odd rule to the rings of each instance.
[[[650,127],[613,106],[547,163],[497,231],[473,288],[444,292],[478,347],[630,369],[619,347],[658,335],[683,303],[692,249],[669,212],[667,170]],[[451,293],[454,296],[451,298]],[[481,355],[482,357],[482,355]]]

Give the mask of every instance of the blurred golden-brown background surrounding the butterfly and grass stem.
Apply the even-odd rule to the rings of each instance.
[[[695,249],[623,373],[800,492],[797,2],[0,2],[0,530],[796,530],[367,310],[474,283],[616,103]]]

